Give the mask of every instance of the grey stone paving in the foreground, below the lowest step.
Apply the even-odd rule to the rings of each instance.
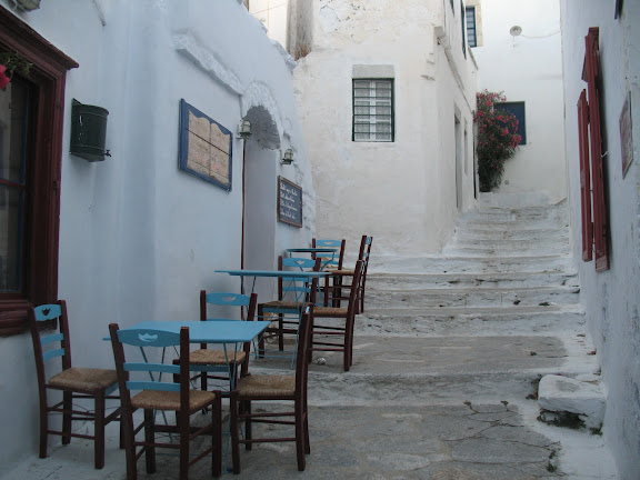
[[[507,403],[507,404],[504,404]],[[257,444],[241,451],[241,479],[416,479],[416,480],[588,480],[609,479],[602,440],[534,419],[534,401],[403,407],[312,407],[311,454],[298,472],[292,443]],[[266,427],[260,427],[266,428]],[[200,462],[191,478],[209,478]],[[107,462],[92,468],[92,446],[72,441],[53,447],[47,459],[23,461],[4,480],[120,480],[124,453],[117,427],[109,426]],[[158,457],[158,472],[141,480],[178,474],[177,457]]]

